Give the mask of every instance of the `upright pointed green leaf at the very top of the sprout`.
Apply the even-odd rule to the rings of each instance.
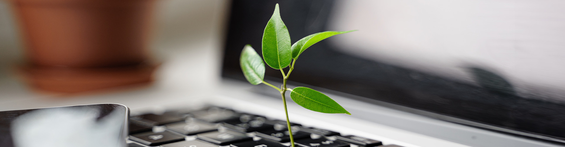
[[[263,58],[272,68],[281,69],[290,64],[290,36],[279,14],[279,4],[263,32]]]

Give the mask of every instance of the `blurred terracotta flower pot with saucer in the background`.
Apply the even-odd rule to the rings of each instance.
[[[155,0],[11,0],[32,87],[56,92],[149,83]]]

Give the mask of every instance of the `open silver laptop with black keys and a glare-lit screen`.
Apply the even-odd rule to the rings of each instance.
[[[233,1],[219,90],[133,109],[128,145],[288,146],[275,127],[285,119],[279,93],[247,83],[239,66],[244,45],[261,45],[276,3],[292,42],[359,30],[301,54],[288,87],[319,90],[352,115],[316,113],[287,99],[299,146],[565,146],[556,86],[563,78],[554,75],[562,67],[542,64],[560,63],[555,47],[563,42],[535,42],[559,37],[550,32],[562,30],[551,25],[560,9],[504,1]],[[265,80],[280,85],[280,71],[266,68]],[[262,125],[249,127],[253,120]]]

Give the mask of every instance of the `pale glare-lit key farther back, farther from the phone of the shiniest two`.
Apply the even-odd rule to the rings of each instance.
[[[194,111],[190,114],[192,114],[194,118],[210,123],[223,122],[224,120],[237,119],[239,117],[239,114],[235,111],[220,107],[210,107],[205,110]]]

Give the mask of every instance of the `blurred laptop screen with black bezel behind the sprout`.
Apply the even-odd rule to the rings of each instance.
[[[233,1],[223,76],[245,80],[241,50],[261,54],[275,3],[292,43],[359,30],[309,47],[290,81],[564,142],[565,3]],[[266,67],[267,80],[280,77]]]

